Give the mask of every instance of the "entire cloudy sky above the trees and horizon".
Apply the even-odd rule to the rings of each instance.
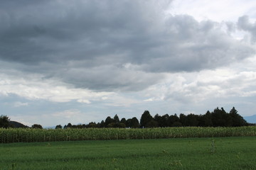
[[[256,114],[255,0],[1,0],[0,115],[44,127]]]

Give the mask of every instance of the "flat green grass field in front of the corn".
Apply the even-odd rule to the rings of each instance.
[[[0,145],[4,169],[256,169],[256,137]]]

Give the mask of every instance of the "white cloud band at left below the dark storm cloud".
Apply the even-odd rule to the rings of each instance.
[[[75,89],[68,84],[63,84],[55,79],[43,79],[41,74],[0,74],[0,94],[8,96],[16,94],[29,100],[48,100],[53,102],[78,101],[90,103],[90,101],[102,100],[109,96],[110,92],[93,92],[87,89]],[[22,103],[17,103],[16,106]],[[23,103],[24,105],[24,103]]]

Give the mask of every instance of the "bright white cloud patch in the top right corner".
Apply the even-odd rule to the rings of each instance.
[[[254,0],[175,0],[169,10],[172,14],[187,14],[198,21],[237,21],[240,16],[250,15],[256,19]]]

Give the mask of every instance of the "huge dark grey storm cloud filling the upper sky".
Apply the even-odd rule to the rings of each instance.
[[[1,4],[0,59],[76,87],[138,91],[163,79],[155,73],[213,69],[255,53],[218,23],[164,18],[159,1]]]

